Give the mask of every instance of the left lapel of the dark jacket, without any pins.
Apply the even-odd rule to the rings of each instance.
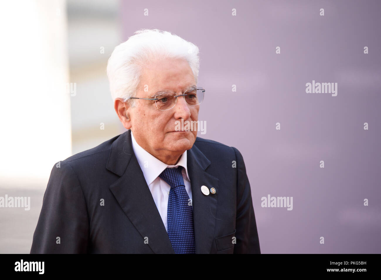
[[[142,170],[133,153],[130,130],[112,144],[106,168],[121,176],[110,190],[154,253],[174,253]]]

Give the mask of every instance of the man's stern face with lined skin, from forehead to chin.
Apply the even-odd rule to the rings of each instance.
[[[155,92],[163,90],[181,95],[195,85],[193,72],[186,60],[157,60],[142,71],[136,97],[154,98],[152,95]],[[184,97],[180,96],[173,108],[160,111],[155,100],[134,101],[136,105],[128,108],[127,116],[130,118],[134,138],[142,148],[163,162],[173,162],[175,157],[192,148],[197,129],[175,131],[176,121],[197,121],[200,105],[188,105]]]

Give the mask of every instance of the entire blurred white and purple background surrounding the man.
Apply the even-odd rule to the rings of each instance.
[[[0,207],[0,253],[29,253],[56,162],[125,132],[106,65],[142,28],[199,46],[198,136],[242,153],[262,253],[381,253],[379,1],[1,6],[0,197],[30,197],[30,210]],[[312,80],[337,96],[306,93]],[[293,210],[261,207],[268,195]]]

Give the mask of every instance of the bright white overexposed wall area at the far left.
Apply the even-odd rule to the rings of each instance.
[[[45,189],[72,149],[66,2],[4,1],[0,28],[0,188]]]

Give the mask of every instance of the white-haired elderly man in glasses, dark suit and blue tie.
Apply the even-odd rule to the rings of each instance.
[[[242,155],[197,137],[198,73],[197,46],[170,32],[115,48],[127,131],[54,165],[30,253],[260,253]]]

